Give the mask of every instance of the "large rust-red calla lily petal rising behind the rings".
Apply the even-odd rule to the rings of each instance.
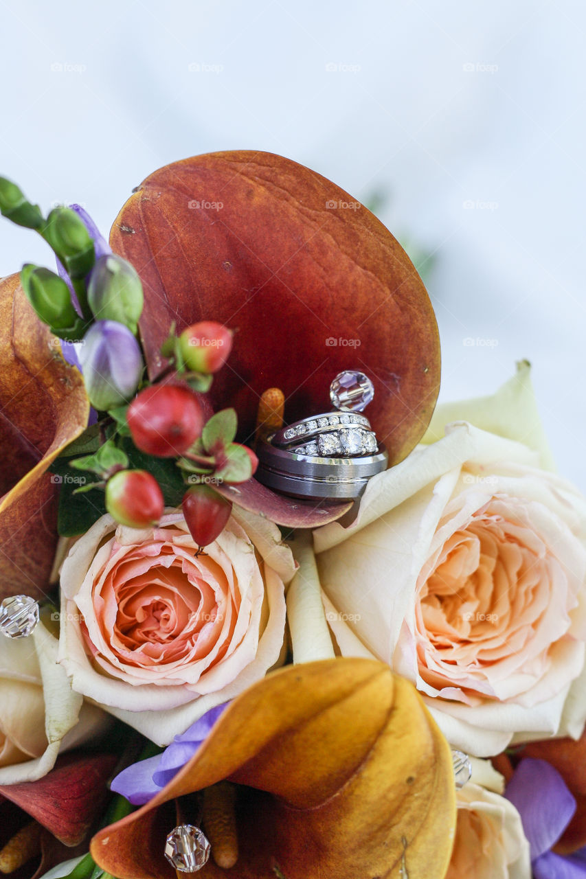
[[[143,280],[151,376],[172,321],[235,331],[211,398],[238,410],[243,442],[268,385],[290,423],[331,408],[343,369],[374,382],[368,414],[391,463],[421,438],[440,378],[428,294],[388,229],[331,181],[270,153],[194,156],[137,187],[110,241]]]

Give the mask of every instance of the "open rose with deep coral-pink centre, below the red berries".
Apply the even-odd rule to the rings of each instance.
[[[144,532],[103,516],[62,566],[59,661],[77,693],[168,745],[275,665],[294,570],[252,513],[202,555],[178,512]]]

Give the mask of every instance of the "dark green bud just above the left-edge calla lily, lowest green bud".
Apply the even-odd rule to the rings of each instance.
[[[25,265],[20,281],[37,316],[55,336],[73,340],[84,335],[84,321],[71,302],[70,289],[55,272],[40,265]]]

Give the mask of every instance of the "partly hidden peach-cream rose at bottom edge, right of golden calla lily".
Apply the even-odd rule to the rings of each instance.
[[[504,779],[474,760],[472,780],[456,794],[454,848],[445,879],[531,879],[521,816],[502,794]]]

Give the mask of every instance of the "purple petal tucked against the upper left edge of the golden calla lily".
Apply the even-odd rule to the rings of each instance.
[[[175,736],[162,754],[127,766],[114,778],[110,786],[112,790],[136,806],[148,803],[194,756],[229,704],[224,702],[223,705],[210,708],[186,732]]]

